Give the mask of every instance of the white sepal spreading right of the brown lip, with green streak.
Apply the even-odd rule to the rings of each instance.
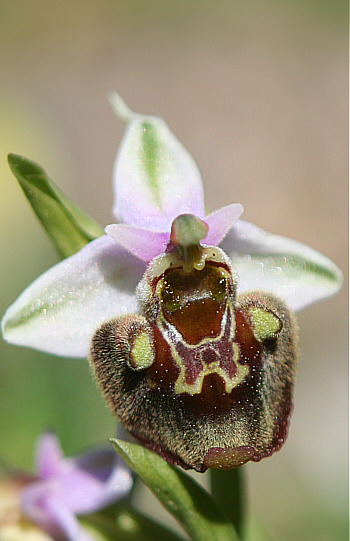
[[[238,273],[238,293],[270,292],[294,311],[335,295],[341,270],[301,242],[239,220],[220,244]]]

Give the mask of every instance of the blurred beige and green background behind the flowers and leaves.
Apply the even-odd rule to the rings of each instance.
[[[57,256],[6,163],[36,160],[102,225],[123,125],[107,95],[164,117],[206,205],[348,264],[348,15],[343,0],[1,0],[1,314]],[[285,447],[247,464],[276,541],[347,539],[347,288],[300,313]],[[29,468],[54,428],[68,454],[115,434],[87,362],[0,345],[0,455]],[[147,496],[139,504],[153,506]]]

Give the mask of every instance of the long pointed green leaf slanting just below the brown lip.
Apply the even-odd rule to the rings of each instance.
[[[111,440],[119,455],[141,477],[193,541],[235,541],[232,524],[212,497],[191,477],[140,445]]]

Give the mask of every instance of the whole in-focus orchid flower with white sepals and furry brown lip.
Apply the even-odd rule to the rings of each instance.
[[[112,104],[127,123],[113,175],[119,223],[35,280],[5,313],[3,336],[90,355],[117,418],[170,462],[204,471],[260,460],[287,433],[293,312],[334,295],[342,273],[304,244],[241,220],[240,204],[206,216],[198,168],[166,123],[116,94]],[[217,410],[234,437],[226,428],[209,437]],[[205,443],[194,452],[198,433]]]

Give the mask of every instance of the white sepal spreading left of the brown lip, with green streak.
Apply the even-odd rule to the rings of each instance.
[[[137,312],[135,288],[145,265],[108,235],[37,278],[8,308],[4,339],[65,357],[86,357],[96,327]]]

